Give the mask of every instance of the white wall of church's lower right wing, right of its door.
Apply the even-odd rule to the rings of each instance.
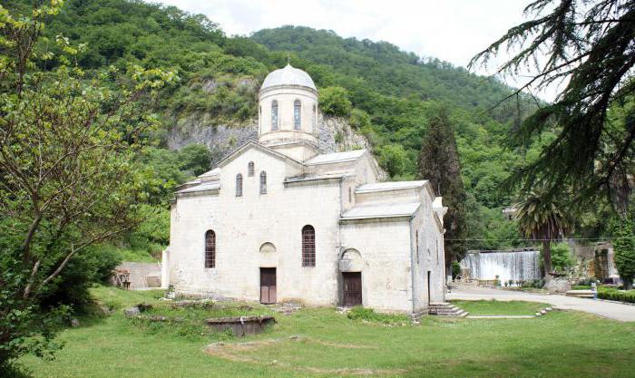
[[[346,222],[342,247],[359,251],[363,305],[380,311],[412,312],[408,218]]]

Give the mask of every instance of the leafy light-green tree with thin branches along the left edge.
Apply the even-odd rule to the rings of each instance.
[[[133,158],[155,123],[140,101],[175,77],[138,66],[89,77],[74,64],[83,46],[63,36],[59,64],[42,71],[54,58],[44,19],[62,4],[29,16],[0,5],[0,370],[53,346],[64,307],[37,305],[73,257],[140,222]]]

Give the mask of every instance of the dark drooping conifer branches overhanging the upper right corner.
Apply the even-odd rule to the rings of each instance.
[[[517,170],[508,186],[546,185],[555,195],[563,185],[575,188],[578,199],[605,192],[621,210],[632,189],[630,168],[635,127],[607,127],[607,111],[635,91],[635,3],[623,0],[535,0],[525,14],[532,20],[509,29],[470,63],[488,63],[501,49],[517,49],[498,73],[520,76],[534,71],[515,95],[569,81],[555,102],[525,119],[511,136],[528,144],[557,125],[558,137],[538,160]]]

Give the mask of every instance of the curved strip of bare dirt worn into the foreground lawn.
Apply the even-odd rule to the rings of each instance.
[[[294,370],[297,372],[305,373],[322,373],[322,374],[338,374],[338,375],[393,375],[399,373],[405,373],[405,369],[366,369],[366,368],[318,368],[311,366],[297,366],[291,363],[283,363],[279,361],[272,361],[265,363],[256,358],[249,357],[245,352],[250,352],[262,347],[282,344],[282,343],[294,343],[298,341],[321,344],[331,346],[335,348],[345,349],[376,349],[376,346],[372,345],[359,345],[359,344],[340,344],[327,342],[323,340],[313,339],[305,336],[290,336],[278,339],[251,341],[246,343],[214,343],[209,344],[203,349],[206,354],[220,357],[225,360],[229,360],[237,363],[255,363],[266,366],[278,366],[286,369]]]

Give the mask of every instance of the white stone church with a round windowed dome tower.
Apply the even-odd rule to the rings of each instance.
[[[441,198],[425,180],[377,176],[368,150],[319,150],[318,90],[308,73],[290,65],[269,73],[258,141],[176,192],[163,286],[386,312],[443,302]]]

